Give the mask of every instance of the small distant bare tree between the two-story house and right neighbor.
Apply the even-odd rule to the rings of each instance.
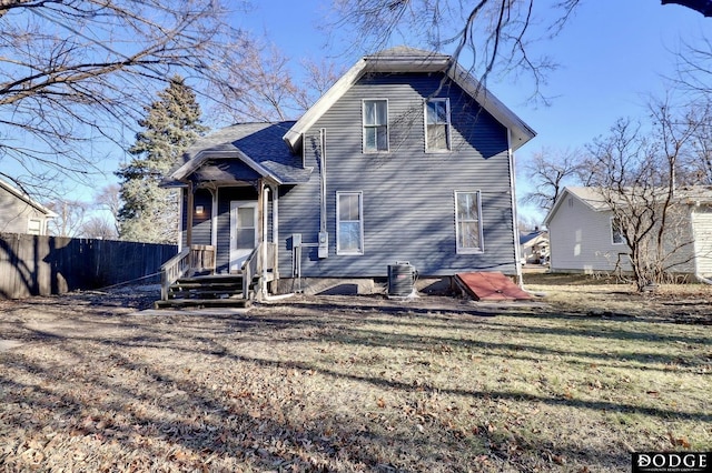
[[[578,150],[542,149],[522,167],[521,179],[534,189],[522,198],[526,203],[537,205],[547,212],[566,185],[585,184],[589,179],[583,164],[583,153]]]

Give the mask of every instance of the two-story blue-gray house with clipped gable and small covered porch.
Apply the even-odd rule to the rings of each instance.
[[[297,121],[199,140],[166,185],[182,191],[184,248],[214,250],[217,273],[260,260],[273,291],[385,278],[396,262],[518,274],[514,151],[534,135],[449,56],[394,48]]]

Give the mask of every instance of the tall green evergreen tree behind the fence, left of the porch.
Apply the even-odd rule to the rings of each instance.
[[[116,172],[122,201],[119,234],[122,240],[176,243],[179,193],[159,183],[207,128],[200,124],[195,92],[182,78],[174,77],[138,122],[145,130],[128,150],[135,158]]]

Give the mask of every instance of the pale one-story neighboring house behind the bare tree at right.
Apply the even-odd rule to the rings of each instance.
[[[676,190],[665,235],[671,273],[712,275],[712,189]],[[552,272],[630,271],[630,248],[596,188],[567,187],[544,219]]]

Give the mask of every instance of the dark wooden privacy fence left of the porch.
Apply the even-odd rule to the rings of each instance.
[[[0,233],[0,299],[61,294],[140,280],[178,252],[171,244]]]

